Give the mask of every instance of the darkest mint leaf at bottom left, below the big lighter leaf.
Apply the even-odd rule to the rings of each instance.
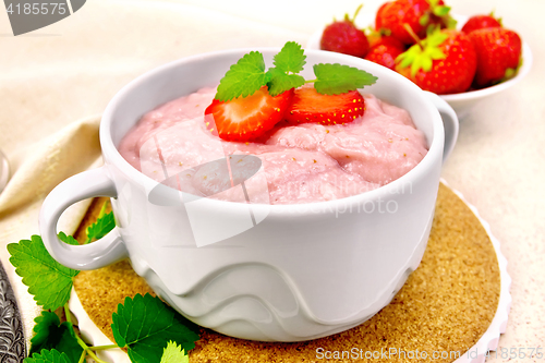
[[[77,362],[83,348],[77,343],[72,325],[60,323],[56,313],[44,311],[34,319],[34,337],[31,339],[31,354],[56,349],[65,353],[71,362]]]

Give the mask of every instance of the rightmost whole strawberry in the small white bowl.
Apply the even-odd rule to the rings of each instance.
[[[514,75],[520,63],[522,41],[517,33],[504,27],[471,32],[477,56],[474,85],[486,87]]]

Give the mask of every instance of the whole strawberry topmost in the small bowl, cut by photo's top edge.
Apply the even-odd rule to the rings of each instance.
[[[396,0],[383,4],[375,17],[377,31],[389,29],[391,35],[405,45],[414,44],[404,24],[421,38],[426,35],[426,28],[433,24],[441,27],[453,27],[450,17],[450,8],[445,7],[443,0]]]

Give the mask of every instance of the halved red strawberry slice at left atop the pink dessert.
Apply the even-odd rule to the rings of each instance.
[[[293,89],[272,97],[267,87],[263,86],[252,96],[238,97],[226,102],[215,99],[206,108],[205,114],[214,117],[219,137],[247,142],[264,135],[283,120],[292,97]],[[216,132],[213,124],[207,123],[207,129]]]

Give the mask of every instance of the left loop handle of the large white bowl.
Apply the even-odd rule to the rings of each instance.
[[[73,269],[100,268],[125,258],[128,251],[118,227],[85,245],[70,245],[57,237],[57,223],[69,206],[94,196],[117,195],[116,185],[105,167],[75,174],[57,185],[44,201],[39,214],[39,230],[51,256]]]

